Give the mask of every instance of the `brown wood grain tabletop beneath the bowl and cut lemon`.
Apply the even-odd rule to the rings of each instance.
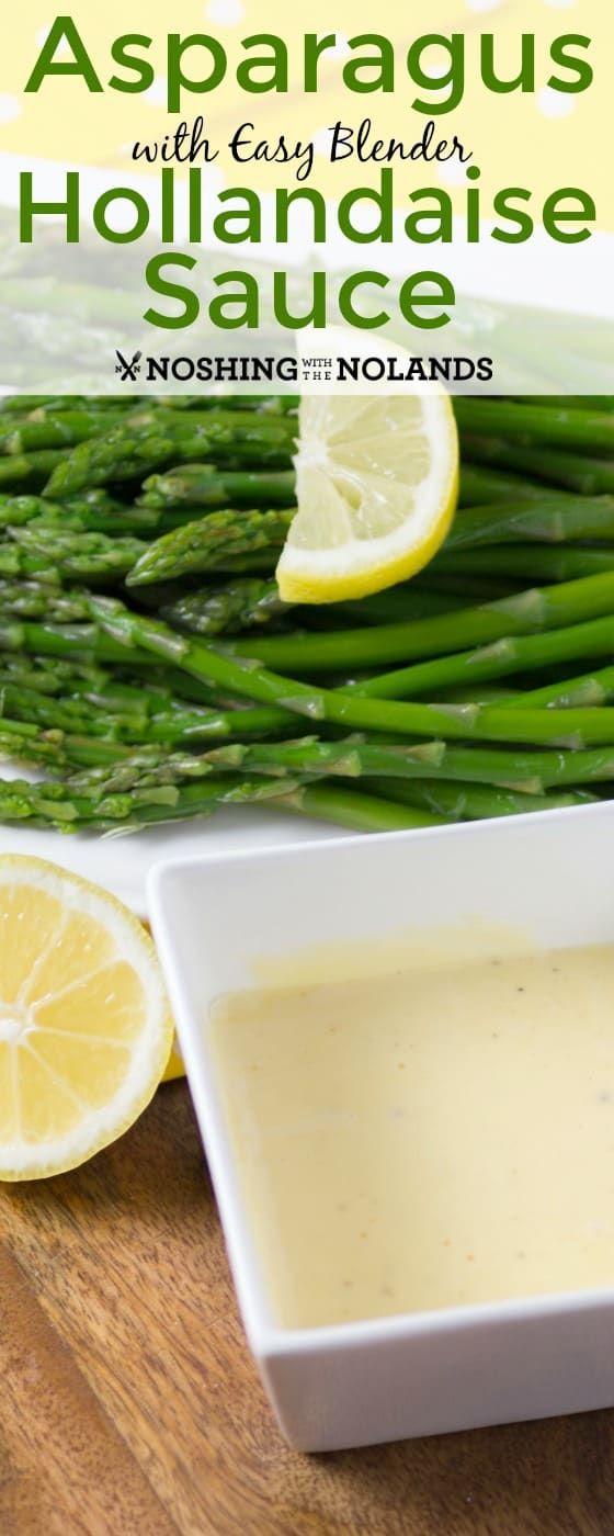
[[[0,1189],[2,1536],[611,1536],[614,1413],[301,1456],[249,1358],[187,1089]]]

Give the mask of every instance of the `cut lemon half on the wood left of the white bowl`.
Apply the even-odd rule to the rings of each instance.
[[[172,1021],[154,942],[106,891],[0,857],[0,1180],[115,1141],[152,1098]]]

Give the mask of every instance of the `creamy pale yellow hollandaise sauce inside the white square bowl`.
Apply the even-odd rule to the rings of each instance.
[[[218,998],[279,1322],[614,1284],[614,948]]]

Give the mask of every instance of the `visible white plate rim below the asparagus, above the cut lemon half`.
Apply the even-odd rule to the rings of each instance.
[[[6,765],[2,773],[8,777]],[[106,836],[91,833],[41,833],[26,823],[0,825],[0,852],[34,854],[72,869],[106,886],[143,917],[147,911],[146,883],[155,863],[189,854],[250,852],[315,842],[319,837],[347,837],[342,828],[302,820],[259,806],[232,806],[201,822],[155,826],[143,833]]]

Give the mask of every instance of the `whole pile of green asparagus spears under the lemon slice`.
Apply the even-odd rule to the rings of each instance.
[[[611,404],[462,398],[460,511],[428,570],[289,610],[295,402],[5,401],[0,753],[48,782],[0,782],[0,820],[121,831],[264,799],[385,831],[608,794]]]

